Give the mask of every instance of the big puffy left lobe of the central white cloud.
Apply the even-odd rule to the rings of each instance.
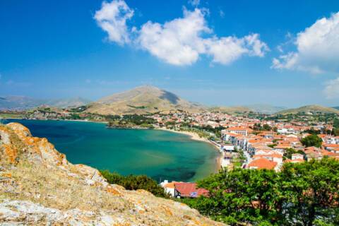
[[[206,26],[204,12],[184,9],[184,18],[171,20],[164,25],[148,21],[139,32],[138,44],[150,54],[169,64],[189,65],[205,52],[200,35],[211,32]]]

